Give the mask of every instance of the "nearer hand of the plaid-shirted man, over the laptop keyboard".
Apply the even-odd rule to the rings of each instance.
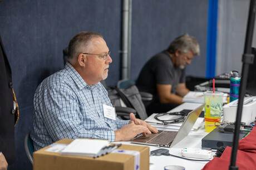
[[[151,134],[149,128],[142,125],[135,125],[134,121],[131,121],[128,125],[123,126],[119,130],[115,131],[116,141],[130,141],[140,133]]]

